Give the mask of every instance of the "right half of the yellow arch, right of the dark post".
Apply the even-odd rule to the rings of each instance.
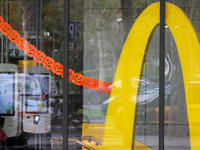
[[[191,150],[200,149],[200,45],[185,13],[173,4],[166,8],[166,24],[174,37],[185,87]]]

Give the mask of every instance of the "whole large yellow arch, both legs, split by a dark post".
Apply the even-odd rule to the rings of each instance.
[[[130,150],[138,84],[148,41],[160,22],[160,3],[147,7],[133,25],[124,44],[110,95],[103,149]],[[200,149],[200,45],[198,35],[177,6],[166,3],[166,24],[169,26],[180,56],[191,149]]]

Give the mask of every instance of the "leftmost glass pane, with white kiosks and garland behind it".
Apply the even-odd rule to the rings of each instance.
[[[2,0],[0,16],[0,149],[61,147],[63,1]]]

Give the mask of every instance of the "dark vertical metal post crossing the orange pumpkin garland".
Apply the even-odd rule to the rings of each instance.
[[[64,0],[64,20],[63,20],[63,51],[64,51],[64,71],[63,71],[63,149],[68,150],[68,32],[69,32],[69,0]]]

